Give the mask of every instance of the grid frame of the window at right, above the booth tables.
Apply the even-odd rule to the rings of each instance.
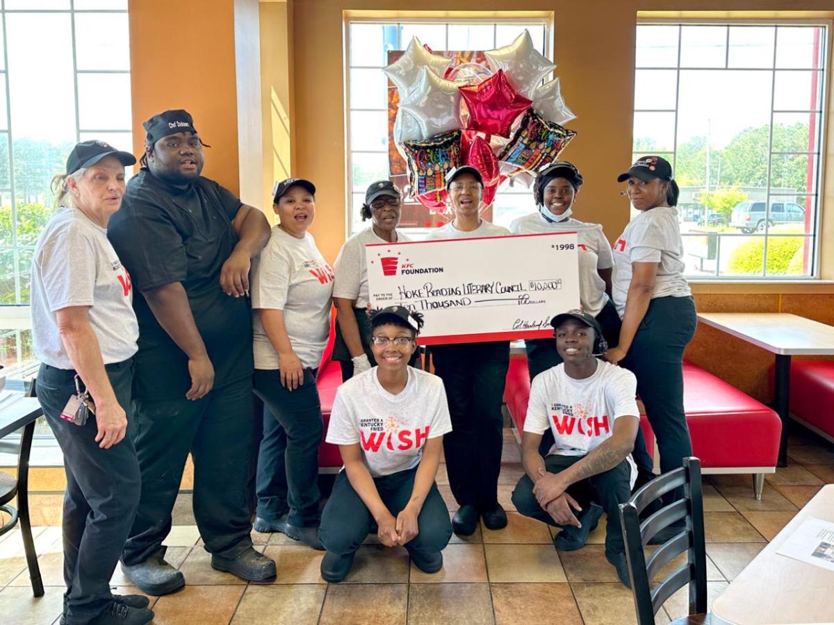
[[[788,197],[788,198],[796,198],[797,196],[816,196],[816,214],[814,215],[814,222],[813,222],[813,233],[806,234],[806,233],[769,233],[765,232],[761,235],[763,239],[763,258],[762,258],[762,272],[761,275],[726,275],[722,276],[719,273],[720,270],[720,260],[721,260],[721,245],[719,242],[718,248],[718,257],[716,258],[716,273],[712,275],[687,275],[686,279],[690,283],[694,284],[705,284],[705,283],[713,283],[713,284],[730,284],[730,283],[751,283],[751,284],[760,284],[760,285],[774,285],[778,283],[782,284],[824,284],[824,283],[831,283],[830,280],[826,280],[822,278],[823,273],[823,253],[822,253],[822,246],[824,245],[823,239],[823,227],[824,227],[824,213],[825,213],[825,206],[824,206],[824,199],[825,199],[825,185],[826,185],[826,152],[827,152],[827,116],[831,112],[831,107],[834,107],[834,92],[831,92],[831,77],[829,76],[829,72],[831,71],[831,65],[834,63],[834,58],[832,58],[832,46],[834,46],[834,20],[831,19],[815,19],[815,18],[721,18],[721,17],[708,17],[708,18],[697,18],[697,17],[689,17],[689,18],[681,18],[681,17],[640,17],[638,16],[636,21],[636,27],[640,26],[704,26],[704,27],[726,27],[727,28],[727,39],[725,42],[726,47],[726,58],[724,67],[681,67],[681,31],[678,32],[678,39],[677,39],[677,62],[675,66],[670,67],[655,67],[655,66],[646,66],[646,67],[637,67],[635,62],[635,70],[639,71],[642,69],[656,69],[656,70],[667,70],[667,71],[674,71],[676,72],[676,93],[675,93],[675,108],[674,109],[641,109],[632,107],[632,120],[635,113],[640,112],[669,112],[674,113],[675,115],[675,125],[674,125],[674,149],[672,151],[662,151],[656,152],[659,156],[663,156],[664,158],[668,158],[667,155],[671,155],[671,164],[672,170],[675,171],[676,168],[676,157],[677,157],[677,147],[678,147],[678,117],[679,117],[679,104],[680,104],[680,90],[681,90],[681,71],[689,71],[689,70],[698,70],[698,69],[705,69],[705,70],[715,70],[721,71],[722,69],[727,70],[741,70],[741,71],[752,71],[752,72],[771,72],[771,76],[773,77],[773,81],[771,82],[771,107],[770,107],[770,122],[769,122],[769,130],[768,130],[768,158],[767,158],[767,170],[766,170],[766,187],[765,189],[765,199],[761,200],[762,203],[766,203],[767,213],[770,213],[770,204],[774,201],[779,202],[779,198],[781,197]],[[762,27],[762,26],[773,26],[777,27],[774,29],[774,46],[773,46],[773,56],[774,62],[772,63],[771,67],[728,67],[728,56],[729,56],[729,33],[730,28],[733,26],[747,26],[747,27]],[[824,41],[821,43],[821,63],[822,66],[819,70],[811,70],[808,68],[785,68],[785,67],[777,67],[776,65],[776,55],[777,55],[777,37],[778,37],[778,27],[783,28],[791,28],[791,27],[801,27],[801,26],[817,26],[823,28],[822,34],[824,37]],[[636,52],[637,47],[635,45],[635,61],[636,61]],[[802,110],[799,111],[801,113],[814,113],[818,117],[817,122],[817,147],[816,153],[806,152],[808,156],[815,156],[816,157],[816,188],[814,193],[809,193],[806,189],[806,193],[792,193],[792,194],[780,194],[780,193],[771,193],[771,188],[773,187],[771,181],[771,174],[772,174],[772,163],[773,157],[779,155],[789,154],[791,156],[801,156],[802,152],[791,152],[785,153],[780,151],[773,150],[773,121],[774,121],[774,114],[780,114],[785,112],[793,112],[793,111],[786,111],[786,110],[776,110],[774,111],[774,99],[776,95],[776,72],[777,71],[818,71],[821,76],[821,80],[819,83],[819,92],[820,92],[820,107],[815,110]],[[636,82],[636,81],[635,81]],[[633,121],[632,121],[633,123]],[[634,138],[632,135],[632,155],[643,154],[642,152],[638,152],[634,150]],[[757,200],[749,200],[751,203],[756,202]],[[834,210],[834,209],[832,209]],[[686,236],[686,235],[684,235]],[[697,235],[693,235],[697,236]],[[719,238],[721,237],[750,237],[750,234],[746,233],[718,233]],[[756,235],[753,235],[756,236]],[[806,238],[811,242],[811,253],[813,258],[813,263],[809,268],[809,274],[806,275],[799,275],[791,277],[790,275],[767,275],[767,248],[768,248],[768,239],[769,238],[785,238],[785,237],[801,237]]]

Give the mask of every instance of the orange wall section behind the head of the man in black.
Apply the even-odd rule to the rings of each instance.
[[[234,2],[130,0],[128,11],[134,153],[145,119],[184,108],[212,146],[203,173],[239,193]]]

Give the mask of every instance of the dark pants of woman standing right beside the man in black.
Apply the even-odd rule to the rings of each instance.
[[[289,512],[295,527],[319,525],[319,443],[322,418],[315,370],[304,369],[294,391],[278,369],[255,369],[254,392],[264,402],[264,438],[258,453],[257,515],[276,522]]]

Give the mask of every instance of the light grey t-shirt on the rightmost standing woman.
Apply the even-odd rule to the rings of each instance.
[[[643,211],[625,227],[614,244],[614,277],[611,295],[622,318],[631,284],[631,263],[660,263],[651,298],[686,298],[691,294],[683,277],[683,242],[676,208]]]

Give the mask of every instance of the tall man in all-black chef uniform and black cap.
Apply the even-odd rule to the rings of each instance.
[[[108,225],[139,321],[131,428],[142,495],[122,569],[152,595],[185,584],[162,542],[190,452],[194,517],[212,567],[269,579],[275,563],[252,547],[246,496],[254,453],[249,264],[269,240],[269,223],[200,176],[203,143],[188,112],[161,112],[143,127],[143,167]]]

